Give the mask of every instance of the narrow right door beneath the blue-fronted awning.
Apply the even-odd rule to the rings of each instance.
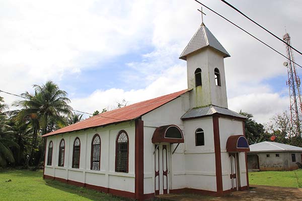
[[[229,153],[230,159],[230,179],[231,179],[231,190],[239,189],[239,162],[238,153]]]

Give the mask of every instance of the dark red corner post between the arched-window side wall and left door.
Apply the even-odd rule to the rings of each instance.
[[[143,121],[135,120],[135,198],[143,199]],[[154,194],[154,193],[153,193]]]

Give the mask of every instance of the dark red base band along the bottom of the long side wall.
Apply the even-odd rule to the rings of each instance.
[[[105,193],[110,193],[110,194],[113,194],[113,195],[116,195],[116,196],[135,198],[135,193],[133,193],[133,192],[117,190],[117,189],[112,189],[112,188],[106,188],[106,187],[102,187],[102,186],[91,185],[91,184],[82,183],[82,182],[79,182],[79,181],[66,180],[66,179],[63,179],[63,178],[58,178],[58,177],[53,177],[53,176],[48,176],[48,175],[44,175],[44,176],[45,176],[45,179],[53,179],[53,180],[57,180],[57,181],[60,181],[60,182],[63,182],[63,183],[68,183],[68,184],[71,184],[71,185],[75,185],[75,186],[86,187],[86,188],[102,191],[102,192],[105,192]],[[150,194],[145,194],[143,196],[150,196]]]

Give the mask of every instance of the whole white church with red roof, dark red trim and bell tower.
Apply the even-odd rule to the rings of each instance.
[[[44,135],[44,178],[138,200],[248,189],[245,117],[228,109],[225,57],[202,24],[180,56],[188,89]]]

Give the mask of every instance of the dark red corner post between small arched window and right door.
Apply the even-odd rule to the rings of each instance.
[[[222,169],[221,169],[221,149],[219,136],[219,117],[213,116],[215,167],[216,167],[216,187],[217,193],[222,194]]]

